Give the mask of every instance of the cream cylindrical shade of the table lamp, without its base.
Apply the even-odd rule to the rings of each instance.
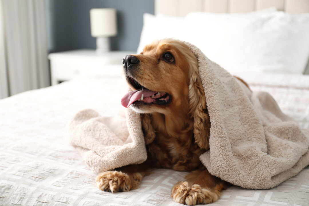
[[[91,9],[90,10],[91,36],[116,36],[117,15],[115,9]]]

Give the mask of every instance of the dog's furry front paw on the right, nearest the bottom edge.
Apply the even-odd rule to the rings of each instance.
[[[209,204],[219,198],[216,192],[202,188],[198,184],[189,185],[188,182],[176,183],[171,196],[175,202],[186,205]]]

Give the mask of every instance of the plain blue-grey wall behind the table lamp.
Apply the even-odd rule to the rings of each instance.
[[[91,8],[117,10],[118,35],[111,37],[112,50],[136,51],[143,13],[154,14],[154,0],[45,0],[49,53],[95,48],[90,34]]]

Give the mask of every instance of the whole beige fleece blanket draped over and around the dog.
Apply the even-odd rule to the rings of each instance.
[[[251,92],[192,44],[210,115],[210,150],[200,156],[209,172],[232,184],[268,189],[309,165],[309,131],[284,115],[265,92]],[[95,172],[146,160],[140,116],[101,117],[79,112],[66,137]]]

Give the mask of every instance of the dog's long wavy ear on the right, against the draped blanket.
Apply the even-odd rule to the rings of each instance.
[[[197,61],[189,65],[189,113],[194,119],[194,139],[200,148],[209,149],[210,120],[205,93],[198,73]]]

